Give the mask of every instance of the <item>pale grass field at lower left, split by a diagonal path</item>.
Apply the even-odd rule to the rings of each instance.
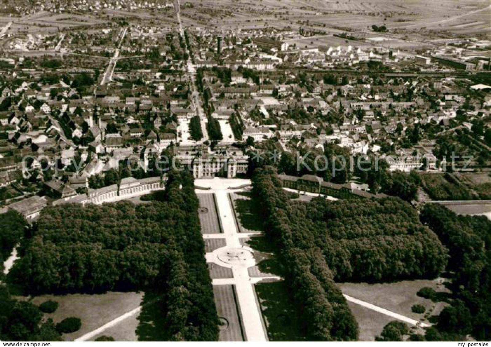
[[[46,318],[52,318],[55,323],[67,317],[78,317],[82,320],[79,331],[64,334],[65,341],[72,341],[80,336],[99,328],[109,321],[138,307],[142,301],[143,293],[119,293],[106,294],[67,294],[67,295],[42,295],[32,299],[35,304],[41,304],[46,300],[58,302],[58,309]],[[125,341],[136,341],[135,320],[131,318],[123,320],[111,329],[113,337]],[[103,335],[108,335],[104,333]]]

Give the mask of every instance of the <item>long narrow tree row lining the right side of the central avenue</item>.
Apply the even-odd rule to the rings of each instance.
[[[339,288],[332,279],[322,251],[296,244],[298,231],[291,226],[294,209],[278,188],[271,167],[257,169],[253,177],[254,199],[259,203],[267,237],[274,240],[285,264],[289,284],[302,317],[307,340],[356,341],[358,326]]]

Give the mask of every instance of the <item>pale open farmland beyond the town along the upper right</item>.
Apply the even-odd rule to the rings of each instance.
[[[426,28],[457,34],[486,33],[490,6],[487,1],[442,0],[415,1],[337,1],[337,0],[264,0],[242,1],[187,1],[182,9],[183,21],[195,26],[210,23],[223,29],[233,27],[290,27],[300,26],[318,30],[369,30],[372,25],[384,24],[390,31],[410,33]],[[295,22],[291,18],[296,19]],[[219,21],[212,20],[219,18]]]

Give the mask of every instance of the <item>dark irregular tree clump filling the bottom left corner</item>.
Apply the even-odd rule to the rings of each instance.
[[[1,341],[60,341],[53,320],[43,321],[43,313],[29,301],[14,299],[0,284]]]

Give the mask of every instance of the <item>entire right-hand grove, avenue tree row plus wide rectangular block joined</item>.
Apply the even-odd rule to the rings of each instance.
[[[256,169],[253,195],[301,303],[309,339],[357,337],[356,322],[334,280],[427,278],[445,267],[446,249],[408,203],[397,198],[291,201],[275,173],[269,166]]]

